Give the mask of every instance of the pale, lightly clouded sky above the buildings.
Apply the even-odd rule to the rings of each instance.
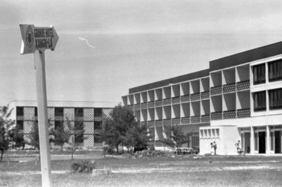
[[[47,99],[122,102],[128,89],[208,69],[217,58],[282,41],[282,1],[2,0],[0,105],[36,100],[19,24],[53,25]]]

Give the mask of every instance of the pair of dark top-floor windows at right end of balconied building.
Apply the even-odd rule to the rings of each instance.
[[[268,64],[268,80],[282,80],[282,60],[269,62]],[[265,83],[265,64],[253,66],[254,84]]]

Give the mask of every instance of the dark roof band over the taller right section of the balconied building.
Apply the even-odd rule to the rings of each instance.
[[[247,62],[252,62],[280,54],[282,54],[282,42],[277,42],[267,46],[254,48],[249,51],[244,51],[242,53],[237,53],[235,55],[222,57],[217,60],[212,60],[210,61],[210,71],[225,69],[231,66],[238,66]]]

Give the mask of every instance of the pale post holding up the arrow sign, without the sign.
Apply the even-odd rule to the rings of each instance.
[[[44,51],[35,51],[34,64],[38,94],[38,132],[40,141],[40,163],[42,186],[51,187],[51,161],[47,118],[47,94]]]

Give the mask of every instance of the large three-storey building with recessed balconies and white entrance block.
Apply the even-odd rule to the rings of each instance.
[[[282,150],[282,42],[209,62],[209,69],[145,84],[122,96],[147,125],[157,147],[165,127],[194,132],[200,154],[249,154]]]

